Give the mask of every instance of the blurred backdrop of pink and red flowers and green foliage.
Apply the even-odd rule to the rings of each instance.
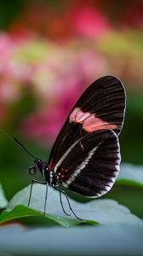
[[[40,0],[0,3],[0,129],[37,158],[54,139],[83,90],[112,74],[127,90],[122,161],[143,164],[143,2]],[[0,180],[10,199],[31,182],[33,160],[0,135]],[[140,189],[106,195],[139,216]]]

